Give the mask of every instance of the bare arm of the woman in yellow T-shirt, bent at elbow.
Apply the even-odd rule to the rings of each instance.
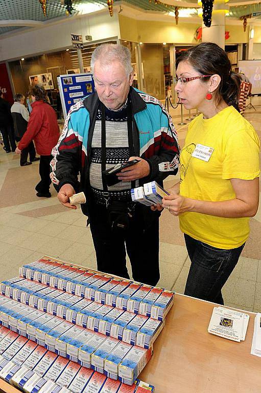
[[[256,214],[259,201],[259,178],[253,180],[230,179],[235,192],[235,198],[228,201],[211,202],[182,197],[171,194],[165,197],[162,207],[168,208],[174,215],[195,212],[228,219],[253,217]]]

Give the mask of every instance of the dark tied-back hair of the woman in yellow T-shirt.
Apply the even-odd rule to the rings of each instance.
[[[182,52],[176,60],[176,68],[181,61],[187,61],[201,75],[218,74],[221,81],[217,90],[217,103],[223,99],[239,111],[241,78],[238,73],[231,71],[230,60],[223,49],[216,43],[202,42]],[[209,78],[201,79],[203,83],[208,80]]]

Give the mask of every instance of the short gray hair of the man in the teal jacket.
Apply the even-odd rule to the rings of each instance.
[[[131,54],[129,49],[123,45],[102,43],[102,45],[99,45],[96,49],[94,49],[90,60],[92,73],[94,70],[94,64],[97,60],[99,60],[102,65],[108,65],[113,61],[118,61],[125,68],[127,76],[129,76],[132,72]]]

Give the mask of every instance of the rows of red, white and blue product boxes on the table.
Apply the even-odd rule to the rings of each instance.
[[[27,367],[26,355],[30,360],[33,354],[39,353],[42,356],[38,363],[41,359],[45,364],[43,359],[47,357],[52,362],[51,370],[48,363],[50,367],[44,373],[36,372],[50,383],[50,389],[42,391],[51,393],[55,388],[52,383],[70,378],[69,383],[60,386],[79,393],[92,392],[87,385],[76,390],[73,384],[78,384],[77,378],[83,371],[92,373],[90,384],[93,373],[97,373],[93,377],[95,381],[100,375],[99,389],[93,390],[97,393],[120,393],[121,383],[131,388],[152,356],[152,344],[163,329],[173,298],[173,292],[70,266],[49,257],[21,267],[18,277],[0,283],[0,355],[4,363],[8,360],[19,367],[10,377],[11,383],[19,385],[17,381],[23,375],[20,367]],[[14,359],[22,361],[23,366]],[[41,362],[38,363],[41,367]],[[7,365],[4,367],[9,369]],[[29,375],[34,381],[33,374]],[[106,390],[104,386],[112,380],[114,390]],[[37,393],[42,386],[40,382],[37,384],[30,391]],[[26,390],[28,385],[31,387],[26,381],[25,387],[21,384],[19,387]],[[137,389],[138,384],[134,385]]]

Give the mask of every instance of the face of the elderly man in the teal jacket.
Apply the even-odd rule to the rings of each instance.
[[[120,109],[127,99],[133,81],[133,73],[127,76],[119,61],[103,65],[97,60],[94,64],[93,77],[100,101],[108,109]]]

